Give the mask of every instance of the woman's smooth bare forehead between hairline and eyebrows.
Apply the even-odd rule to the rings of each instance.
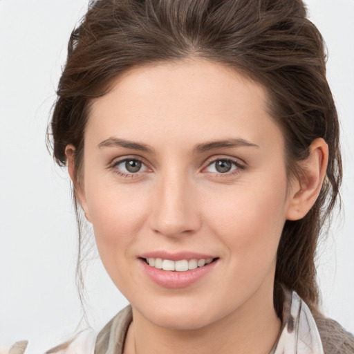
[[[187,59],[132,68],[91,104],[85,138],[158,137],[171,144],[281,133],[267,109],[264,88],[232,68]],[[203,141],[201,141],[203,142]]]

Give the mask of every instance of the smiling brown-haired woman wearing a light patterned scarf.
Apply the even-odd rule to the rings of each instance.
[[[315,249],[342,165],[301,1],[96,1],[51,129],[131,304],[95,353],[354,353],[319,312]]]

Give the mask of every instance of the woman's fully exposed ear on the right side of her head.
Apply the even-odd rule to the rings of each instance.
[[[328,145],[322,138],[313,140],[308,158],[300,161],[301,175],[291,183],[286,218],[299,220],[313,207],[326,176]]]

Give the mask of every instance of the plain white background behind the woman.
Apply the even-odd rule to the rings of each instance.
[[[354,1],[308,0],[328,46],[342,124],[344,211],[319,252],[323,308],[354,332]],[[41,353],[71,334],[77,232],[66,170],[46,151],[46,124],[71,30],[87,0],[0,0],[0,343]],[[127,300],[93,254],[87,314],[100,330]]]

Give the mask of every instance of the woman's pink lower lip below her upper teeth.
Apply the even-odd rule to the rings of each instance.
[[[159,286],[163,286],[164,288],[185,288],[190,286],[192,283],[195,283],[205,275],[207,275],[210,271],[212,271],[218,263],[218,259],[209,263],[207,265],[203,265],[203,267],[199,267],[196,269],[186,270],[185,272],[172,272],[169,270],[156,269],[151,267],[149,264],[145,262],[144,259],[139,259],[140,263],[142,263],[142,267],[144,271],[147,273],[147,276],[157,283]]]

